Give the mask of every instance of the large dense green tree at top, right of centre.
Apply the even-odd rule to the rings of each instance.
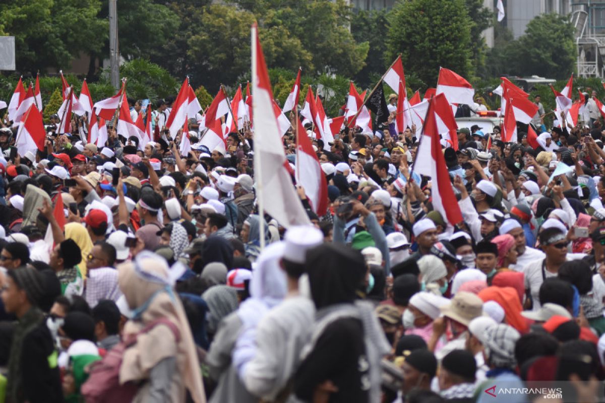
[[[473,74],[465,0],[399,0],[388,21],[387,60],[402,53],[404,67],[426,85],[436,85],[440,66]]]

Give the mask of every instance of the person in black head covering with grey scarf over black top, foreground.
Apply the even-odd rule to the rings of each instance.
[[[390,346],[371,305],[355,301],[367,271],[364,257],[351,248],[324,243],[308,251],[306,260],[317,313],[312,340],[302,350],[294,378],[296,397],[378,402],[381,359]],[[325,391],[325,385],[334,392]]]

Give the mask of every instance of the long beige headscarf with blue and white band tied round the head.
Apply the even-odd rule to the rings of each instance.
[[[197,350],[185,309],[172,294],[169,271],[166,261],[154,253],[140,253],[133,262],[118,266],[120,289],[129,307],[135,310],[134,317],[139,318],[126,322],[124,335],[137,334],[146,324],[159,318],[171,321],[179,331],[176,361],[180,375],[192,399],[196,403],[205,402]],[[156,332],[141,334],[137,343],[125,351],[120,367],[120,384],[146,379],[157,363],[168,358],[174,350],[174,343],[169,338],[157,336]]]

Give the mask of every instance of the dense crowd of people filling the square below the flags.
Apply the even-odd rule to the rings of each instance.
[[[211,150],[191,120],[181,155],[170,105],[144,147],[111,122],[103,147],[77,118],[56,135],[55,116],[44,151],[19,156],[0,128],[0,400],[526,402],[546,398],[488,390],[556,381],[560,401],[603,395],[599,120],[547,131],[538,112],[537,149],[522,126],[517,143],[498,126],[442,141],[456,225],[396,112],[330,144],[307,124],[329,207],[292,177],[312,225],[286,229],[258,211],[262,128]]]

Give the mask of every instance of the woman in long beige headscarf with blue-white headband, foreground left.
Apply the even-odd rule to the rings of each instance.
[[[120,289],[132,319],[124,337],[138,334],[157,320],[168,320],[178,330],[159,324],[137,336],[125,350],[120,384],[141,382],[134,402],[183,402],[186,390],[196,403],[206,401],[195,343],[180,300],[172,292],[168,265],[157,254],[143,251],[132,262],[118,266]]]

